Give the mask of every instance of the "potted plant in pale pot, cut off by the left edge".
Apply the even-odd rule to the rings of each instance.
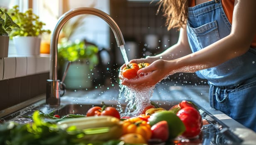
[[[12,21],[5,10],[0,9],[0,58],[8,57],[8,32],[12,31],[12,27],[18,28],[19,26]]]

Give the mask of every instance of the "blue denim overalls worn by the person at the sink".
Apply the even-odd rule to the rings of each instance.
[[[224,38],[230,31],[220,0],[188,7],[187,33],[193,52]],[[256,49],[250,48],[242,56],[196,74],[208,80],[211,107],[256,131]]]

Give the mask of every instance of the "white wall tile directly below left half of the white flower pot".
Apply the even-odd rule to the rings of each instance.
[[[27,58],[16,57],[16,73],[15,77],[23,77],[27,75]]]

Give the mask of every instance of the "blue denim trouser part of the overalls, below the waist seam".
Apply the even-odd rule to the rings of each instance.
[[[210,105],[256,132],[256,77],[240,86],[210,85]]]

